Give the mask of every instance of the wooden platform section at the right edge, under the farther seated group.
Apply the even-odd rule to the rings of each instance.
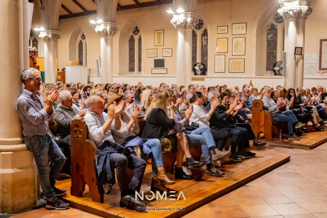
[[[300,136],[300,140],[298,141],[288,140],[287,135],[283,135],[283,139],[286,139],[286,141],[273,138],[272,141],[268,142],[270,142],[270,146],[310,150],[327,141],[327,130],[322,132],[312,132],[312,129],[313,127],[309,126],[308,133]]]

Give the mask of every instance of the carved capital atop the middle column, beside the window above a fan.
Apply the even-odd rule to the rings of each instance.
[[[176,29],[192,29],[198,21],[198,16],[193,12],[174,14],[170,23]]]

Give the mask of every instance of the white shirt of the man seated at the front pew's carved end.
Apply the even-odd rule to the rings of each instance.
[[[111,131],[108,130],[106,134],[103,134],[102,126],[107,121],[108,114],[103,112],[98,116],[95,112],[87,110],[84,120],[88,128],[88,139],[97,144],[100,148],[105,140],[114,142]],[[114,128],[114,121],[111,123],[111,129]]]

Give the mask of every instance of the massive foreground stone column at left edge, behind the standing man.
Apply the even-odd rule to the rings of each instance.
[[[0,214],[16,213],[36,205],[35,176],[32,153],[27,150],[16,113],[16,101],[22,91],[20,73],[24,69],[24,14],[22,0],[3,0],[0,7],[2,29],[2,70],[0,86]],[[26,47],[26,46],[25,46]]]

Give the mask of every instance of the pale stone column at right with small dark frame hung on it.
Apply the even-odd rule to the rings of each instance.
[[[305,20],[312,13],[310,0],[285,0],[278,14],[285,21],[285,51],[287,52],[286,87],[303,86],[303,55],[295,56],[295,47],[303,47]]]

